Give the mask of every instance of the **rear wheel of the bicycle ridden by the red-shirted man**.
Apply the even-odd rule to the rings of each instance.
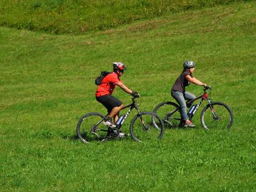
[[[90,142],[106,135],[107,127],[103,124],[104,115],[91,112],[81,117],[76,126],[76,134],[82,142]]]

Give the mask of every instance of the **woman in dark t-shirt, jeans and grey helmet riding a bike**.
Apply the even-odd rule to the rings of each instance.
[[[175,81],[171,88],[171,96],[180,105],[181,117],[184,121],[184,127],[195,127],[195,125],[189,120],[188,114],[186,113],[186,101],[195,99],[195,95],[185,91],[185,87],[189,86],[190,82],[195,85],[206,86],[205,83],[197,80],[192,73],[195,71],[195,63],[193,61],[185,61],[183,63],[183,72]]]

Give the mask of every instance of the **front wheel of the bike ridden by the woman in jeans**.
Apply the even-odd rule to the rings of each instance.
[[[229,130],[233,124],[233,113],[223,102],[212,102],[204,107],[200,121],[205,130],[216,128]]]

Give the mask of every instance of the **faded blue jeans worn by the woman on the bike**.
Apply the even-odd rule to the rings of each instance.
[[[180,113],[181,113],[182,119],[184,121],[188,120],[189,117],[188,117],[188,114],[186,114],[186,101],[185,100],[193,100],[196,97],[188,91],[185,91],[184,93],[182,93],[180,91],[171,91],[171,96],[173,96],[173,98],[180,105]]]

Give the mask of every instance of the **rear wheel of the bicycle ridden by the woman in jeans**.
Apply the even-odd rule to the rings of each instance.
[[[171,101],[165,101],[158,104],[153,112],[161,117],[164,122],[164,126],[169,126],[170,129],[182,126],[181,114],[179,105]],[[154,118],[152,118],[153,125],[157,128]]]

